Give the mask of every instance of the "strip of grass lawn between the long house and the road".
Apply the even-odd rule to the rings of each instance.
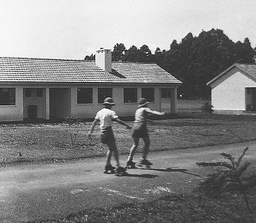
[[[256,139],[256,116],[185,114],[174,119],[149,123],[150,151],[192,148],[204,145],[243,142]],[[129,122],[132,125],[132,122]],[[86,133],[90,122],[80,123],[74,145],[68,124],[1,124],[0,165],[68,161],[104,156],[106,147],[100,143],[95,127],[91,138]],[[113,129],[120,154],[128,154],[132,145],[131,131],[114,123]],[[71,132],[76,133],[76,126]],[[142,143],[140,144],[142,145]],[[138,152],[141,147],[138,148]],[[19,152],[22,154],[20,158]]]

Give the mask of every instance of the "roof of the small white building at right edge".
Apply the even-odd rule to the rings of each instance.
[[[231,68],[237,67],[249,76],[251,76],[256,81],[256,64],[255,63],[234,63],[229,68],[225,69],[221,74],[217,75],[215,78],[210,80],[207,85],[212,84],[213,81],[217,80],[219,77],[224,75],[227,71],[229,71]]]

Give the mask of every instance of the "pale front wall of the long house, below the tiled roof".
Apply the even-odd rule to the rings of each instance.
[[[137,103],[124,103],[124,87],[137,88],[137,99],[141,97],[141,88],[155,88],[155,102],[149,103],[149,108],[161,111],[161,88],[171,88],[171,112],[176,112],[176,87],[170,85],[149,86],[149,85],[82,85],[82,84],[31,84],[31,85],[0,85],[0,87],[15,87],[16,88],[16,105],[0,106],[0,121],[23,121],[23,118],[28,118],[28,105],[38,106],[38,118],[49,120],[51,106],[51,93],[53,88],[62,88],[57,90],[60,94],[56,94],[56,106],[59,107],[58,112],[61,112],[61,117],[73,118],[94,118],[97,111],[103,108],[103,105],[98,103],[98,88],[111,87],[113,88],[113,100],[116,103],[114,107],[116,114],[119,116],[133,116],[137,109]],[[77,104],[77,87],[92,87],[93,88],[93,103],[80,105]],[[25,97],[23,88],[43,88],[43,97],[36,96],[36,90],[33,89],[31,97]],[[69,103],[70,102],[70,103]],[[62,106],[62,108],[60,108]]]

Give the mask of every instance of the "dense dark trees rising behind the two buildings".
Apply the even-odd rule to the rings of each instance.
[[[198,36],[188,33],[180,43],[174,39],[170,50],[156,48],[155,53],[147,45],[140,48],[132,45],[128,50],[124,44],[116,44],[112,51],[113,61],[153,62],[182,81],[179,94],[189,97],[209,97],[206,83],[233,63],[254,63],[256,47],[248,38],[233,42],[220,29],[202,31]],[[85,60],[94,60],[86,56]]]

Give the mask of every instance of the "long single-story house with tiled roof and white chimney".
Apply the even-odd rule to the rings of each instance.
[[[155,63],[112,62],[106,49],[95,61],[0,57],[0,121],[94,118],[105,97],[119,116],[133,116],[140,97],[161,111],[162,88],[176,113],[180,84]]]

